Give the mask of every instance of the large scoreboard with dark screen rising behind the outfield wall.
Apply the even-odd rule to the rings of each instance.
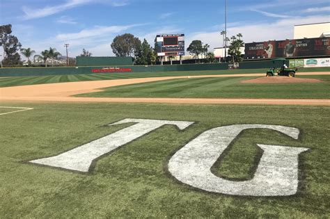
[[[184,56],[184,34],[156,36],[157,56]]]

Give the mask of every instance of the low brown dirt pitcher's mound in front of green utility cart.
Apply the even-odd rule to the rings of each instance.
[[[258,79],[242,81],[242,83],[320,83],[318,79],[290,78],[288,76],[263,76]]]

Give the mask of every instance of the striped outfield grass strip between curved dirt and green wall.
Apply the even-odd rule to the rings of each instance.
[[[46,70],[46,69],[45,69]],[[70,74],[70,75],[51,75],[51,76],[16,76],[1,78],[0,87],[25,86],[42,83],[61,83],[72,81],[100,81],[113,79],[132,79],[159,76],[189,76],[203,74],[249,74],[263,73],[267,69],[253,70],[218,70],[218,71],[180,71],[180,72],[131,72],[131,73],[104,73],[104,74]],[[330,72],[330,67],[301,68],[299,72]]]

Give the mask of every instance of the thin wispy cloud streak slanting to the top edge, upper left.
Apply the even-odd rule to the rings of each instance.
[[[87,3],[103,3],[103,1],[93,1],[93,0],[67,0],[65,3],[62,3],[57,6],[46,6],[45,8],[29,8],[27,6],[23,6],[22,10],[24,12],[23,19],[35,19],[40,17],[47,17],[49,15],[54,15],[56,13],[60,13],[62,11],[68,10],[70,8],[76,8],[78,6],[82,6]],[[104,3],[107,3],[105,1]],[[109,3],[113,7],[119,6],[126,6],[128,3],[127,1],[117,1],[117,0],[110,0]]]

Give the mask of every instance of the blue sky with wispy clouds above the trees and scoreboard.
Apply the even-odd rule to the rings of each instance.
[[[116,35],[132,33],[153,46],[157,33],[184,33],[221,47],[225,0],[0,0],[0,25],[12,24],[22,47],[55,47],[78,56],[113,56]],[[294,24],[330,21],[329,0],[228,0],[228,35],[244,42],[293,38]],[[2,51],[2,50],[1,50]]]

